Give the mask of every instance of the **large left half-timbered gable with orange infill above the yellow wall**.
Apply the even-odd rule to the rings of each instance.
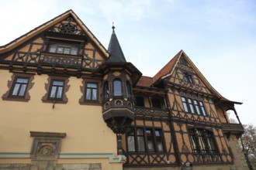
[[[75,16],[71,10],[67,11],[0,47],[0,61],[96,70],[109,54],[92,32]],[[75,46],[77,55],[58,56],[49,53],[50,45],[54,43]],[[68,48],[71,50],[71,47]]]

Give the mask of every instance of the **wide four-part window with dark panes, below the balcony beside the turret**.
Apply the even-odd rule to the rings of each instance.
[[[133,128],[126,134],[127,151],[163,152],[164,138],[161,129]]]

